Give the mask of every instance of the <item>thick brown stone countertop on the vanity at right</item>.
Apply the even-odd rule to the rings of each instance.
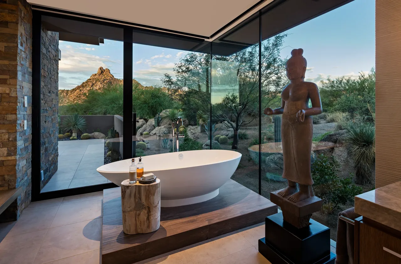
[[[401,181],[356,195],[355,212],[401,231]]]

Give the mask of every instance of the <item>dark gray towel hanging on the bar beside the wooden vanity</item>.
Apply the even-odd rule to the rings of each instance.
[[[338,216],[351,220],[360,217],[354,212],[354,207],[342,211]],[[338,219],[336,241],[336,264],[354,264],[354,226]]]

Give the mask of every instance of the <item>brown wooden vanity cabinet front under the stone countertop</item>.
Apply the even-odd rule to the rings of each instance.
[[[357,218],[354,239],[355,264],[401,264],[401,232]]]

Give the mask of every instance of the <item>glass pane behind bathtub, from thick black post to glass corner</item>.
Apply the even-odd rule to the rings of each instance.
[[[143,44],[133,48],[136,157],[176,151],[172,122],[178,117],[179,150],[210,149],[210,53]]]

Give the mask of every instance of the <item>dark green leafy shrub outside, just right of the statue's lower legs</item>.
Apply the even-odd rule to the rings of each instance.
[[[323,200],[322,213],[331,214],[338,205],[345,205],[354,199],[355,195],[363,192],[361,187],[352,183],[350,177],[340,179],[339,165],[334,159],[331,161],[325,155],[318,155],[312,165],[313,191]]]

